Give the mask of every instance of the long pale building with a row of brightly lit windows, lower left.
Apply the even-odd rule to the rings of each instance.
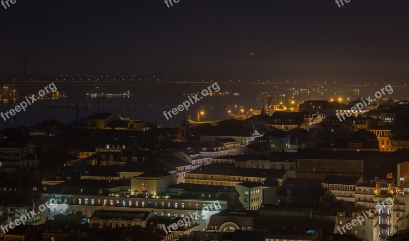
[[[157,184],[157,183],[156,183]],[[155,183],[147,182],[146,190],[150,190]],[[184,183],[181,183],[184,184]],[[82,212],[91,218],[97,210],[108,211],[151,211],[155,216],[175,216],[184,218],[190,213],[198,212],[196,222],[200,229],[206,228],[206,222],[212,214],[227,208],[228,190],[221,192],[186,191],[184,194],[164,191],[166,194],[149,193],[150,191],[131,190],[131,180],[87,180],[79,179],[63,183],[44,186],[42,189],[41,203],[46,203],[52,198],[57,200],[57,206],[39,210],[41,222],[54,219],[57,214],[70,214]],[[142,187],[142,186],[141,186]],[[222,187],[220,187],[222,189]],[[176,190],[188,189],[177,188]],[[170,188],[169,188],[170,190]],[[205,195],[206,194],[206,195]],[[234,192],[233,192],[234,194]],[[214,208],[215,205],[217,209]],[[208,213],[202,213],[208,208]]]

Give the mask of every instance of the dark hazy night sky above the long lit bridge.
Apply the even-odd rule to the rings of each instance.
[[[409,1],[17,0],[0,6],[0,61],[19,73],[406,83]],[[42,62],[42,63],[41,63]],[[210,70],[211,69],[211,70]],[[298,70],[298,71],[295,71]],[[153,79],[153,78],[152,78]]]

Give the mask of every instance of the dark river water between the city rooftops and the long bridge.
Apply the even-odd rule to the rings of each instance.
[[[132,119],[146,119],[149,122],[159,123],[163,127],[175,127],[183,120],[183,115],[197,116],[197,113],[203,112],[203,118],[206,121],[220,120],[228,115],[226,106],[234,107],[237,105],[244,112],[249,111],[249,88],[243,86],[220,86],[220,93],[212,96],[204,97],[199,102],[191,105],[189,110],[178,113],[176,116],[167,120],[163,115],[164,111],[171,111],[184,101],[187,100],[186,93],[197,93],[201,91],[201,86],[100,86],[98,91],[95,86],[58,86],[60,91],[68,96],[65,99],[45,99],[39,100],[30,105],[25,112],[16,114],[18,121],[11,123],[5,122],[0,118],[0,129],[12,127],[16,125],[31,126],[48,118],[55,118],[63,123],[75,121],[75,105],[86,108],[81,109],[80,118],[87,117],[97,111],[97,103],[99,102],[100,112],[115,112],[123,117]],[[42,85],[30,86],[34,91],[42,88]],[[285,88],[273,85],[257,86],[255,88],[256,95],[268,93],[271,97],[275,97],[277,101],[290,103],[292,101],[301,103],[305,100],[338,100],[342,98],[344,103],[356,100],[358,97],[368,97],[378,91],[380,87],[366,89],[336,89],[322,87],[303,87],[303,88]],[[30,91],[30,90],[27,90]],[[128,92],[129,91],[129,92]],[[100,98],[87,98],[86,93],[102,94],[108,93],[107,96]],[[109,93],[125,93],[126,98],[118,98]],[[128,94],[132,93],[132,94]],[[234,94],[233,94],[234,93]],[[89,97],[89,95],[88,95]],[[405,98],[405,91],[395,90],[390,96],[394,99]],[[348,100],[349,98],[349,100]],[[0,102],[0,110],[5,112],[14,108],[19,104],[19,99],[6,99]],[[41,106],[61,106],[73,108],[41,108]]]

